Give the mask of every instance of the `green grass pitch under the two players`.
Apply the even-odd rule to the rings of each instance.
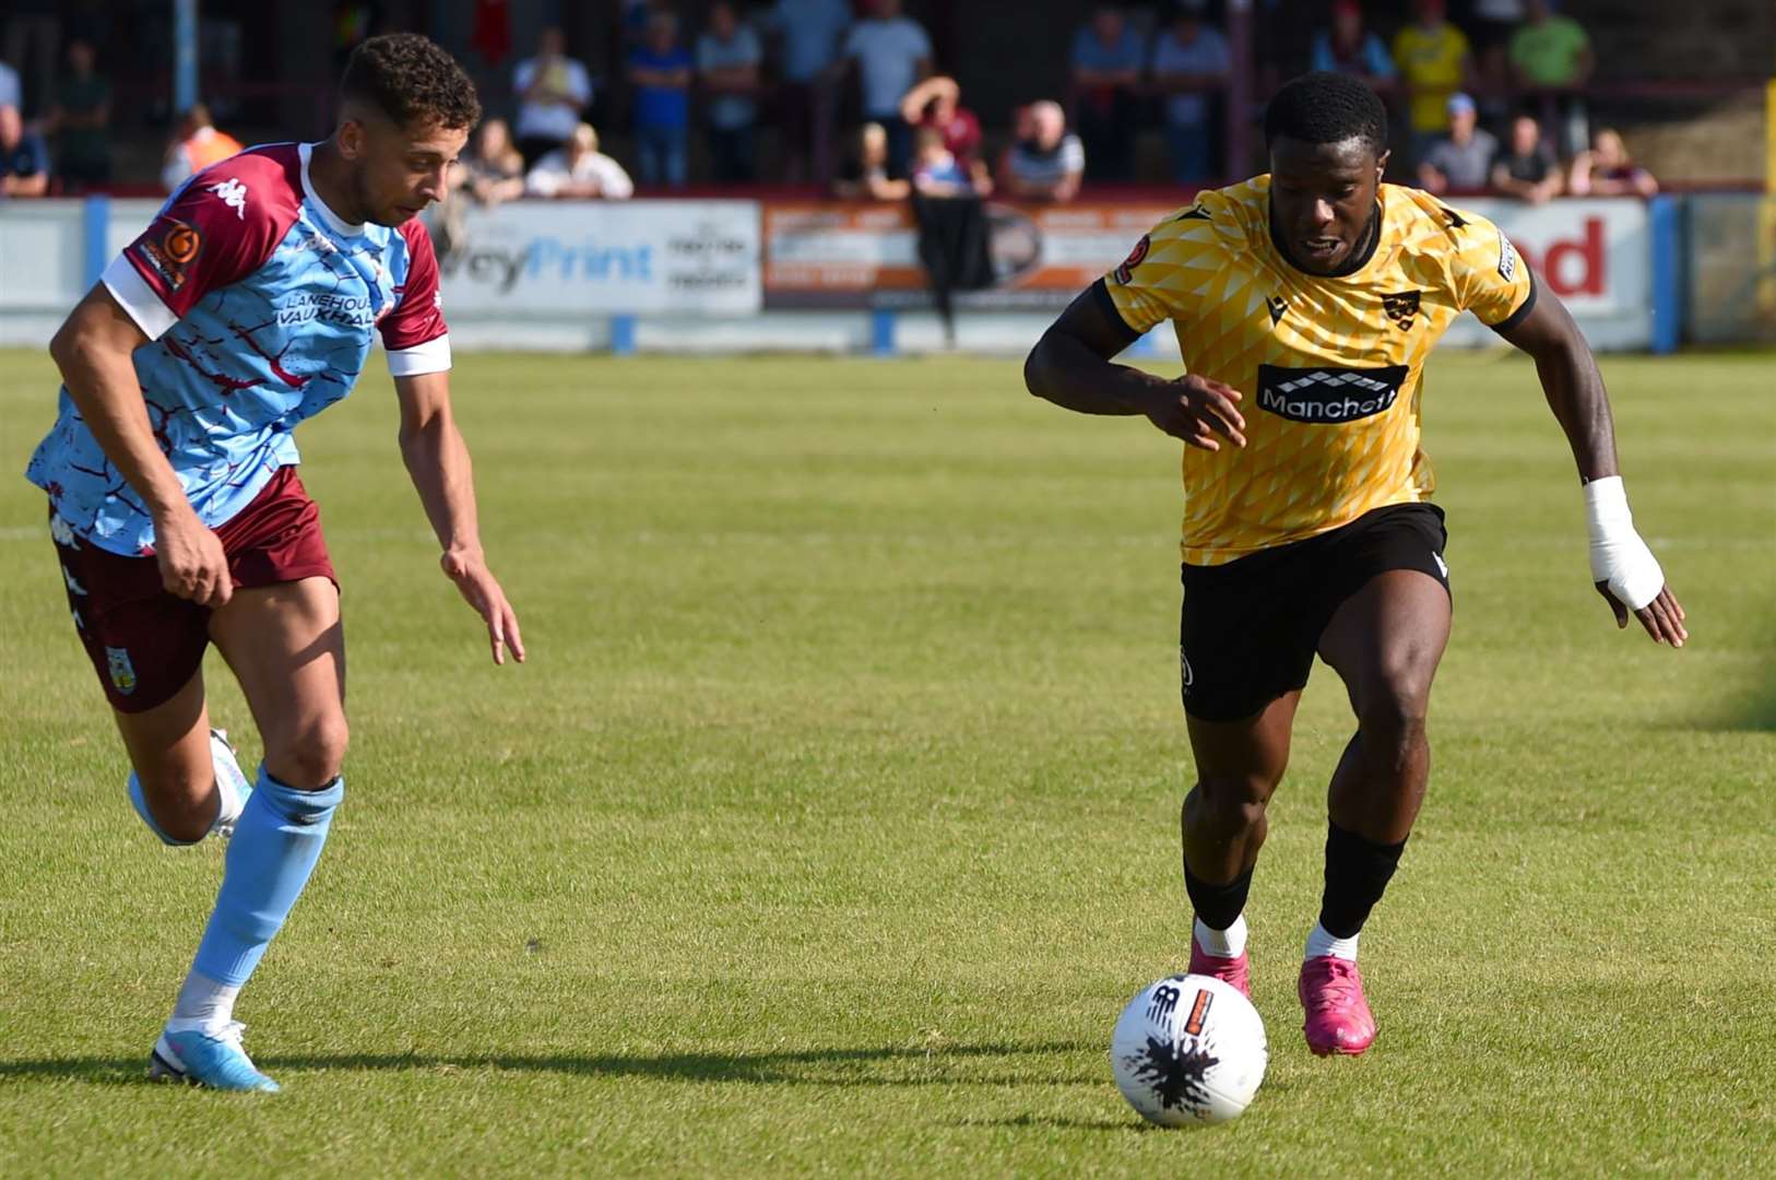
[[[1456,629],[1364,938],[1293,997],[1350,718],[1320,668],[1257,874],[1265,1089],[1147,1130],[1105,1057],[1181,967],[1176,450],[989,361],[464,357],[496,670],[385,380],[304,428],[346,586],[348,798],[240,1015],[286,1093],[140,1080],[220,849],[160,848],[20,478],[0,354],[0,1171],[1767,1175],[1769,355],[1606,363],[1691,645],[1616,633],[1527,361],[1440,355]],[[213,709],[256,741],[220,663]]]

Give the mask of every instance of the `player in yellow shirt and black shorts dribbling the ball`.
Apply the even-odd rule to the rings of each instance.
[[[1316,1054],[1360,1054],[1375,1017],[1357,935],[1424,800],[1424,716],[1449,638],[1419,377],[1458,313],[1534,357],[1579,466],[1591,578],[1616,624],[1632,613],[1673,647],[1687,633],[1634,531],[1591,350],[1504,235],[1382,183],[1387,114],[1353,78],[1284,85],[1265,139],[1270,174],[1204,192],[1144,236],[1048,329],[1025,380],[1060,407],[1140,414],[1186,444],[1192,972],[1249,990],[1241,912],[1314,654],[1344,681],[1357,732],[1332,775],[1325,894],[1298,993]],[[1185,377],[1112,363],[1167,320]]]

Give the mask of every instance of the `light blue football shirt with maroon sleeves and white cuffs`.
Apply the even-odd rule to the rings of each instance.
[[[291,432],[352,391],[373,334],[396,377],[449,368],[424,227],[341,220],[309,183],[311,149],[272,144],[210,165],[101,279],[149,336],[135,352],[149,425],[210,528],[298,462]],[[147,508],[66,387],[25,474],[78,537],[153,551]]]

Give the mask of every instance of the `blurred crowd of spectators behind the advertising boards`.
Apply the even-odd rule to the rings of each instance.
[[[467,197],[622,199],[636,183],[682,188],[694,174],[718,185],[831,176],[833,192],[879,201],[915,192],[1067,201],[1083,181],[1153,176],[1137,167],[1146,132],[1158,132],[1174,181],[1231,176],[1233,55],[1215,0],[1094,4],[1069,43],[1066,91],[1027,94],[1003,137],[984,133],[957,78],[938,73],[932,37],[902,0],[718,0],[698,5],[696,28],[678,0],[616,7],[611,76],[545,28],[510,69],[510,91],[487,94],[490,112],[511,123],[494,117],[476,133],[460,179]],[[1305,60],[1270,71],[1364,78],[1401,130],[1392,176],[1433,192],[1547,201],[1655,190],[1616,132],[1590,135],[1582,89],[1595,55],[1577,21],[1550,0],[1471,0],[1465,11],[1458,27],[1444,0],[1412,0],[1410,21],[1384,36],[1359,0],[1327,0],[1323,27],[1302,41]],[[0,44],[37,60],[39,30],[14,36],[21,28],[7,25]],[[32,91],[44,96],[32,112],[18,73],[0,62],[0,194],[78,194],[112,179],[112,85],[89,39],[71,36],[59,50],[53,76],[32,66]],[[769,176],[762,128],[773,133]],[[600,130],[618,140],[622,162],[600,151]],[[194,107],[176,117],[160,179],[172,188],[238,149]]]

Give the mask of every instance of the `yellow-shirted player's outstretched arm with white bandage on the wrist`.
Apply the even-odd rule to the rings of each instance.
[[[1504,338],[1534,357],[1542,391],[1579,462],[1591,531],[1591,579],[1614,611],[1618,627],[1629,626],[1632,611],[1653,642],[1684,647],[1689,638],[1684,606],[1666,585],[1664,570],[1629,514],[1604,375],[1597,371],[1591,347],[1565,304],[1547,288],[1536,295],[1534,307]]]

